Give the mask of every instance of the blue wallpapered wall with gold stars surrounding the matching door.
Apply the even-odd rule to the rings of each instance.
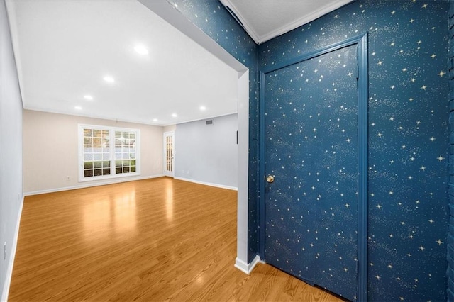
[[[450,1],[359,0],[258,46],[218,1],[171,1],[250,68],[250,259],[258,253],[258,242],[263,239],[258,237],[257,211],[261,179],[258,162],[263,160],[258,158],[258,140],[264,139],[258,137],[258,70],[368,33],[367,299],[445,301],[448,298]],[[275,83],[277,87],[281,84],[284,83]],[[328,108],[319,113],[332,114]],[[330,127],[323,123],[324,127]],[[345,158],[348,161],[345,166],[354,164],[350,157]],[[283,161],[282,164],[292,164],[292,160]],[[311,186],[307,187],[306,193],[311,190]],[[345,211],[345,204],[350,205],[340,199],[335,210]],[[285,225],[282,228],[282,238],[279,233],[274,236],[283,241],[289,239],[284,234],[293,229]],[[317,237],[311,233],[314,230],[309,229],[312,240]],[[333,230],[333,234],[337,233],[338,230]],[[320,257],[332,250],[328,245],[319,245]],[[294,256],[282,255],[279,261],[291,262]],[[331,263],[330,268],[336,272],[349,269],[341,262]],[[346,295],[355,299],[354,294]]]

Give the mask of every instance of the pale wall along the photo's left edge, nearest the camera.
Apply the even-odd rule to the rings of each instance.
[[[0,22],[0,293],[1,301],[6,301],[23,204],[23,184],[22,100],[4,0],[0,0]]]

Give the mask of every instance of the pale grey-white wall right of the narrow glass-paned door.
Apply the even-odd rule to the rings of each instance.
[[[175,178],[238,188],[238,115],[177,125]]]

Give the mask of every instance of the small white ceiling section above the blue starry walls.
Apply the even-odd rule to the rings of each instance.
[[[355,0],[219,0],[255,43],[287,33]]]

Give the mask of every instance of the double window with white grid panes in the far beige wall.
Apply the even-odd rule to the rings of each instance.
[[[139,174],[139,136],[138,129],[79,125],[79,180]]]

